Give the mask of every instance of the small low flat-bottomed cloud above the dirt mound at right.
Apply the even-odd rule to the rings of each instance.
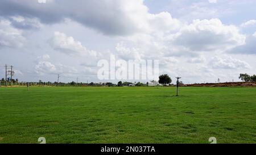
[[[209,65],[214,69],[249,69],[251,66],[245,62],[232,57],[213,57]]]

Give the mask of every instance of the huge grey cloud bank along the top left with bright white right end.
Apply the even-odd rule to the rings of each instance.
[[[26,19],[39,19],[43,23],[58,23],[70,18],[106,35],[131,35],[151,32],[155,28],[170,31],[180,24],[168,12],[150,14],[143,0],[51,0],[47,3],[2,0],[0,15],[19,15]]]

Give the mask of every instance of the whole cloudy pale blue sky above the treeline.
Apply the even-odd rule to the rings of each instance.
[[[256,74],[254,0],[42,1],[0,1],[1,78],[7,64],[24,82],[118,82],[97,77],[111,55],[159,60],[184,83]]]

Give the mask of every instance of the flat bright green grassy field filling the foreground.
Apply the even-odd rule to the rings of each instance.
[[[0,143],[256,143],[256,87],[0,88]]]

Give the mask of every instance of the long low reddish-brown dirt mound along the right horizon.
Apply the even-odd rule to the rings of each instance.
[[[256,87],[256,82],[225,82],[225,83],[194,83],[183,86],[206,86],[206,87]]]

